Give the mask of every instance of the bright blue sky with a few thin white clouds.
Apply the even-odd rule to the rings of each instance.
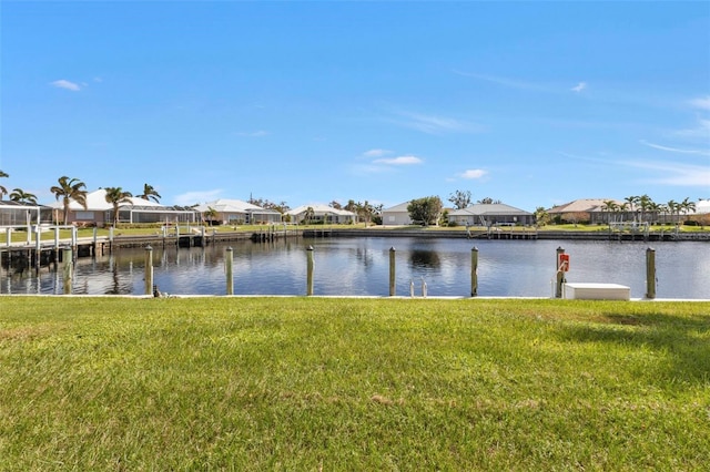
[[[0,184],[710,198],[710,2],[0,3]]]

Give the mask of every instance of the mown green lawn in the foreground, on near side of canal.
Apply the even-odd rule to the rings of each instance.
[[[0,298],[1,470],[701,470],[710,302]]]

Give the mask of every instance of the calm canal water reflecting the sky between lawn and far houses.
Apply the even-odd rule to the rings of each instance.
[[[478,250],[478,295],[551,297],[556,249],[570,256],[570,283],[615,283],[646,294],[646,253],[656,254],[657,298],[710,299],[710,245],[702,242],[466,240],[293,238],[153,249],[154,284],[171,295],[225,295],[226,248],[233,248],[235,295],[305,295],[307,248],[314,248],[314,295],[389,295],[395,248],[396,295],[470,295],[471,249]],[[79,258],[73,294],[143,295],[145,250]],[[62,268],[0,271],[0,294],[63,294]]]

